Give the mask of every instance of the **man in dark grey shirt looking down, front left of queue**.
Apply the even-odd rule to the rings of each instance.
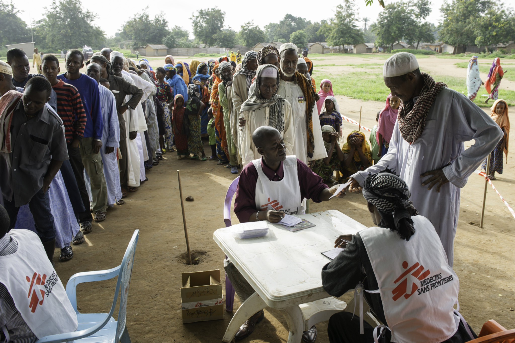
[[[0,108],[13,99],[11,95],[18,102],[11,114],[11,152],[0,152],[0,183],[9,229],[16,224],[20,206],[28,203],[50,261],[56,234],[47,190],[62,161],[68,159],[61,118],[45,106],[51,90],[46,78],[36,76],[27,81],[23,95],[10,91],[0,98]]]

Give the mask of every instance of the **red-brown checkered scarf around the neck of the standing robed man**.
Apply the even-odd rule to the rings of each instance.
[[[397,120],[399,121],[399,130],[401,131],[402,138],[409,144],[415,142],[420,138],[424,131],[425,118],[429,109],[435,102],[436,96],[440,91],[447,87],[443,82],[435,82],[435,80],[428,74],[422,73],[424,79],[424,87],[420,92],[417,102],[413,101],[407,103],[401,100],[401,107]]]

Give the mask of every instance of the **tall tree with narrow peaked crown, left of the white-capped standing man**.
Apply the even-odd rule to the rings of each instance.
[[[355,45],[363,43],[363,31],[356,25],[356,9],[351,0],[345,0],[344,5],[336,6],[334,18],[323,25],[318,31],[327,36],[329,45]]]

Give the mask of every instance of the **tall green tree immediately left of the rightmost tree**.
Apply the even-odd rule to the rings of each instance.
[[[492,8],[490,0],[452,0],[440,8],[440,40],[449,45],[475,45],[475,26],[483,13]]]

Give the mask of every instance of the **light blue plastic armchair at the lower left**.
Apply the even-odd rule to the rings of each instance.
[[[138,243],[140,230],[135,230],[125,250],[122,264],[108,270],[85,271],[76,273],[66,284],[66,295],[77,314],[78,327],[75,332],[51,335],[40,338],[36,343],[58,343],[75,341],[75,343],[130,343],[129,332],[126,327],[126,307],[127,296],[129,294],[129,283],[134,263],[134,252]],[[82,282],[109,280],[118,276],[116,288],[114,290],[113,305],[109,313],[79,313],[77,311],[76,287]],[[112,317],[118,293],[122,289],[120,296],[120,307],[118,320]]]

